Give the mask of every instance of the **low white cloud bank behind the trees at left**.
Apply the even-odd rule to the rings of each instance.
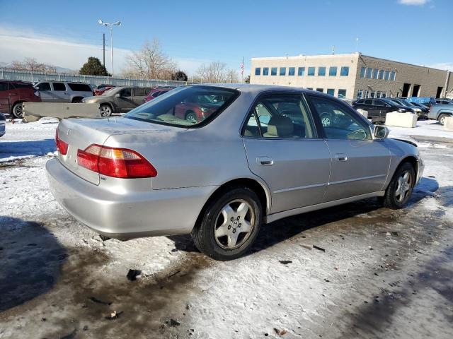
[[[33,57],[39,62],[63,67],[65,69],[80,69],[88,57],[98,57],[102,60],[102,47],[96,44],[86,44],[77,41],[63,40],[61,37],[40,35],[33,30],[18,30],[0,26],[0,66],[10,64],[13,60],[23,60]],[[126,65],[126,57],[130,49],[113,47],[115,72],[119,73]],[[210,60],[173,58],[178,67],[188,74],[196,72],[198,67]],[[105,51],[105,66],[110,71],[110,49]]]

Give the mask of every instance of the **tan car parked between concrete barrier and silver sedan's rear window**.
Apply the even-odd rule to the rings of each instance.
[[[110,88],[102,95],[86,97],[82,102],[99,104],[101,116],[110,117],[112,113],[125,113],[143,104],[152,88],[121,86]]]

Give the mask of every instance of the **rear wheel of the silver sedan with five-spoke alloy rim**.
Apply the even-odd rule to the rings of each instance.
[[[241,204],[242,202],[248,204],[248,216],[246,218],[238,216],[237,220],[236,218],[231,217],[231,220],[225,221],[222,210],[224,210],[226,206],[232,206],[232,212],[239,213],[239,209],[236,209],[236,211],[234,210],[234,205],[236,203]],[[230,203],[231,205],[229,205]],[[223,222],[221,218],[223,219]],[[250,232],[241,232],[241,230],[243,230],[243,225],[241,229],[241,220],[246,219],[250,221],[248,223],[248,225],[251,225]],[[256,193],[248,187],[231,187],[230,189],[225,189],[220,192],[212,199],[212,201],[210,201],[207,208],[205,208],[203,215],[201,215],[199,224],[195,225],[191,235],[197,249],[207,256],[219,261],[232,260],[242,256],[251,249],[251,246],[258,235],[262,219],[263,209],[261,208],[260,200]],[[219,227],[218,225],[221,222],[224,227],[227,227],[227,230],[225,228],[224,230],[226,230],[228,234],[216,237],[216,230],[219,230],[222,227]],[[237,246],[231,246],[231,249],[226,248],[229,246],[229,237],[234,237],[233,233],[235,232],[237,232]]]

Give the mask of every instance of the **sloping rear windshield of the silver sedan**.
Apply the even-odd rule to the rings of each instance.
[[[124,117],[180,127],[203,126],[220,114],[238,90],[211,86],[183,86],[169,90]]]

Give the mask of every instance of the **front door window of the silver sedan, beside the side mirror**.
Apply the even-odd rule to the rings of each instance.
[[[310,96],[309,100],[328,139],[371,140],[369,126],[353,109],[326,97]]]

